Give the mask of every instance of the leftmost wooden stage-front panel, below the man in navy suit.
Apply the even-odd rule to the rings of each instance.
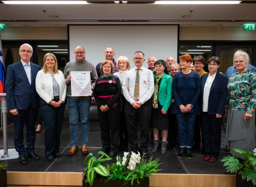
[[[44,185],[44,172],[7,172],[8,185]]]

